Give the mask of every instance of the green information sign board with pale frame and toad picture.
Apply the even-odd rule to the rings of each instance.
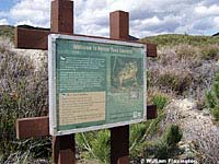
[[[53,136],[146,120],[146,46],[49,35]]]

